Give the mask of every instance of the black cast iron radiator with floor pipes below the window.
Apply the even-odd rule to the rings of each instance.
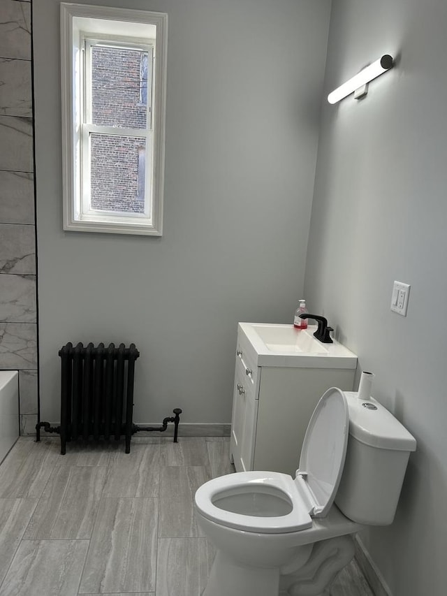
[[[177,442],[179,414],[163,420],[161,427],[138,426],[132,423],[133,378],[135,360],[140,352],[131,344],[104,344],[84,347],[68,343],[59,350],[61,357],[61,424],[50,426],[49,422],[38,422],[37,437],[40,440],[41,427],[48,433],[59,433],[61,454],[66,453],[66,442],[71,439],[93,437],[99,439],[124,435],[126,453],[131,451],[131,435],[138,430],[166,430],[168,422],[175,423],[174,441]]]

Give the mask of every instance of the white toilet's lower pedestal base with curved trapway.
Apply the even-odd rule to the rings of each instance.
[[[240,565],[218,550],[203,596],[328,596],[329,586],[354,555],[352,535],[316,542],[307,562],[293,569],[293,562],[281,573]],[[293,569],[293,571],[291,571]]]

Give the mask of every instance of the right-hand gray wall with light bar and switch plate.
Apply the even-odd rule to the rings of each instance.
[[[325,103],[305,275],[418,441],[395,522],[363,537],[394,596],[446,593],[446,29],[444,0],[333,0],[326,93],[400,58],[364,101]],[[406,318],[390,311],[395,279],[411,284]]]

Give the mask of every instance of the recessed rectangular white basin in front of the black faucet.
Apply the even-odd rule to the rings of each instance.
[[[315,339],[314,327],[309,328],[310,333],[307,329],[295,329],[293,325],[253,325],[253,329],[272,352],[328,354],[325,345]]]

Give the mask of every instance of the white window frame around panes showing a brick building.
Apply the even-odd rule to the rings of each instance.
[[[64,230],[121,234],[161,235],[163,231],[163,182],[165,156],[166,50],[168,15],[146,10],[128,10],[85,4],[61,3],[61,99]],[[154,35],[154,32],[156,34]],[[124,34],[124,35],[123,35]],[[155,37],[155,45],[154,45]],[[89,182],[89,131],[118,136],[133,135],[134,129],[93,126],[82,85],[85,48],[89,40],[112,45],[150,48],[156,56],[152,69],[152,110],[145,129],[145,196],[147,208],[141,214],[91,210],[89,196],[82,189]],[[87,41],[87,44],[85,43]],[[88,52],[88,49],[87,49]],[[82,89],[82,92],[80,92]],[[149,114],[148,114],[149,117]],[[150,137],[152,136],[152,143]],[[152,145],[152,154],[150,154]],[[87,177],[83,180],[83,177]],[[89,185],[88,185],[89,187]]]

